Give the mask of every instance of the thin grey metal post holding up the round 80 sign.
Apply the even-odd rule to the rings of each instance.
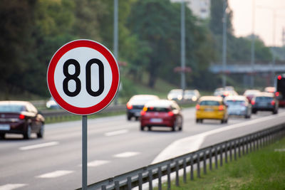
[[[87,115],[82,116],[82,189],[87,190]]]

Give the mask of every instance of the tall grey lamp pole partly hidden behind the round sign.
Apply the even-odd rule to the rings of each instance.
[[[114,0],[114,42],[113,42],[113,52],[115,59],[118,60],[118,0]],[[115,105],[118,104],[118,95],[115,96]]]

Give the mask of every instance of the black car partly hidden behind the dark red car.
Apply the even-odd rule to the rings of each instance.
[[[140,111],[145,106],[145,103],[159,99],[157,95],[134,95],[127,103],[127,119],[131,120],[132,117],[135,117],[135,120],[138,120]]]

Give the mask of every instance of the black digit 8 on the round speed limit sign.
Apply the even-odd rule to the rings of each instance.
[[[73,75],[68,73],[68,66],[74,65],[75,67],[75,73]],[[80,65],[77,60],[75,59],[68,59],[63,64],[63,75],[66,76],[66,78],[63,80],[63,92],[66,93],[66,95],[74,97],[78,95],[81,91],[81,80],[78,78],[80,74]],[[69,80],[74,80],[76,82],[76,90],[74,92],[71,92],[68,90],[68,82]]]

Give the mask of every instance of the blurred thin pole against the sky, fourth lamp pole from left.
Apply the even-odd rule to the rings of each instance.
[[[254,19],[255,19],[255,9],[254,9],[254,0],[252,1],[252,56],[251,56],[251,66],[252,66],[252,75],[250,80],[251,88],[254,88],[254,62],[255,62],[255,36],[254,36]]]

